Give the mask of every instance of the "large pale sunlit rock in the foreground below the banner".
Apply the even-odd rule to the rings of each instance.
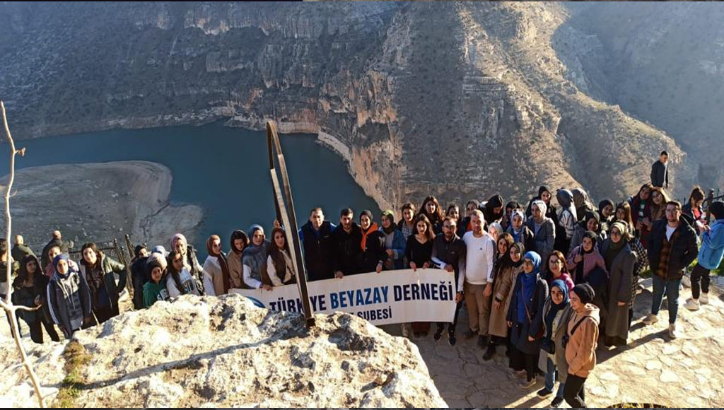
[[[238,295],[182,296],[127,312],[76,334],[89,359],[75,405],[447,407],[409,340],[350,314],[316,321],[307,330],[298,314],[259,309]],[[64,377],[60,350],[34,347],[46,390]],[[5,361],[14,353],[0,351]],[[4,374],[4,385],[27,383],[22,372]],[[1,393],[9,406],[33,404],[12,390]]]

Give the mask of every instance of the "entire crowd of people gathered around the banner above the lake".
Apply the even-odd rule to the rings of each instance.
[[[457,287],[455,315],[450,323],[436,324],[434,340],[442,338],[447,326],[448,343],[455,345],[458,315],[465,306],[463,338],[476,338],[484,360],[504,346],[511,377],[521,379],[521,388],[533,388],[537,375],[544,374],[538,396],[555,393],[552,406],[564,400],[585,406],[584,382],[596,364],[599,335],[606,348],[628,343],[642,272],[650,267],[653,277],[653,303],[643,322],[657,322],[665,295],[668,335],[676,338],[685,269],[698,257],[691,272],[693,297],[686,303],[696,310],[707,304],[710,270],[722,260],[724,203],[715,201],[704,212],[699,187],[687,204],[671,201],[660,186],[668,185],[665,157],[662,153],[659,165],[652,167],[653,184],[642,185],[635,196],[618,204],[605,199],[596,207],[582,188],[551,191],[542,186],[527,206],[505,203],[495,194],[487,201],[468,201],[464,215],[458,204],[443,209],[437,198],[428,196],[419,209],[403,204],[397,222],[394,211],[382,212],[379,224],[369,210],[355,219],[353,209],[342,209],[335,225],[321,208],[311,209],[297,233],[306,278],[344,280],[365,272],[445,269]],[[222,238],[211,235],[203,265],[180,233],[171,238],[170,251],[137,246],[129,267],[134,308],[185,294],[219,296],[234,288],[273,291],[296,282],[290,243],[278,222],[269,238],[264,227],[252,225],[247,232],[233,231],[227,245],[224,252]],[[19,263],[9,268],[7,243],[0,240],[0,269],[17,272],[14,303],[43,306],[22,312],[37,343],[43,341],[41,326],[53,340],[59,338],[54,325],[70,338],[76,330],[119,314],[125,266],[94,243],[82,246],[78,262],[67,250],[56,232],[39,260],[18,235],[12,257]],[[8,284],[1,285],[0,293],[6,292]],[[424,338],[430,327],[417,322],[403,324],[402,331],[405,337]]]

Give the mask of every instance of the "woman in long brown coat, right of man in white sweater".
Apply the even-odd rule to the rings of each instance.
[[[513,285],[515,285],[518,274],[523,272],[523,254],[525,254],[523,244],[513,243],[513,245],[508,248],[508,252],[502,256],[502,260],[498,264],[495,273],[495,280],[493,281],[493,306],[492,309],[490,309],[488,332],[492,338],[497,338],[498,342],[501,340],[509,340],[510,329],[506,323],[506,317],[508,316],[508,306],[510,306],[511,299],[510,293],[513,291]],[[491,359],[494,353],[495,343],[491,340],[488,345],[488,351],[485,352],[483,359]]]

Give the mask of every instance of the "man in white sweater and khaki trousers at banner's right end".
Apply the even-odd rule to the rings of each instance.
[[[465,332],[466,339],[478,335],[478,346],[487,345],[490,304],[493,293],[493,259],[495,243],[489,233],[483,230],[483,213],[476,209],[470,218],[473,230],[463,235],[466,253],[465,302],[470,317],[470,329]]]

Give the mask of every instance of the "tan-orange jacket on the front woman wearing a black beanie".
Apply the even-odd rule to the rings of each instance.
[[[579,320],[576,332],[571,330]],[[576,311],[568,320],[568,344],[565,346],[565,361],[568,363],[568,375],[587,378],[596,367],[596,346],[598,343],[599,310],[592,304],[586,304],[583,313]]]

